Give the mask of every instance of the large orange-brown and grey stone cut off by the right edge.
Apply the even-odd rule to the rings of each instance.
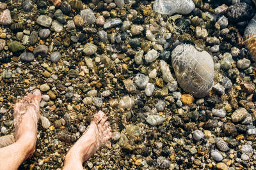
[[[256,61],[256,15],[244,30],[244,45],[246,45],[253,59]]]

